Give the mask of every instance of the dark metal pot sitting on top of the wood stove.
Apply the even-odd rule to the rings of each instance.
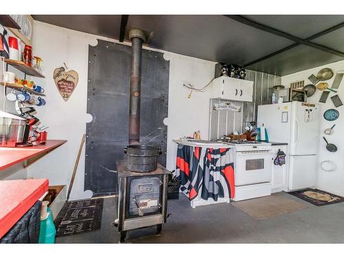
[[[134,172],[155,171],[161,149],[149,144],[131,144],[125,148],[127,166]]]

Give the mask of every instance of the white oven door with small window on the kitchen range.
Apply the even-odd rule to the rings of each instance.
[[[272,153],[270,151],[237,152],[235,185],[271,182]]]

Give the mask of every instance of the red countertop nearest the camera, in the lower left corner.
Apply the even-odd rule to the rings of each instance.
[[[47,191],[47,179],[0,181],[0,238]]]

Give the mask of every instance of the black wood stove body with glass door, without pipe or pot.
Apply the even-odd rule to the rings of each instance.
[[[138,173],[127,168],[127,160],[117,163],[118,193],[116,206],[120,242],[125,241],[128,230],[156,226],[160,234],[166,222],[167,180],[170,173],[162,165],[151,172]]]

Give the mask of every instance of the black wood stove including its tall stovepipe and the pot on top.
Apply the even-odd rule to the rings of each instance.
[[[169,171],[155,163],[159,148],[140,144],[140,96],[142,43],[146,39],[142,30],[129,31],[132,43],[131,77],[129,95],[129,146],[125,149],[127,160],[118,160],[118,187],[116,206],[120,241],[125,241],[128,230],[156,226],[161,233],[166,222],[167,180]],[[153,161],[153,162],[152,162]],[[131,170],[130,170],[131,169]]]

